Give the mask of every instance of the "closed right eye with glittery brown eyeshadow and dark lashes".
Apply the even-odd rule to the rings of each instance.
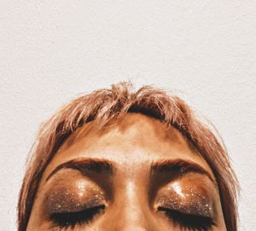
[[[156,195],[157,211],[182,230],[208,231],[215,226],[214,190],[194,177],[179,178],[160,188]],[[205,184],[205,185],[204,185]]]

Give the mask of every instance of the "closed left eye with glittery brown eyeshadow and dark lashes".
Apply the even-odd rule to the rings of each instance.
[[[102,188],[84,179],[57,184],[44,199],[52,228],[74,228],[88,223],[104,211],[106,205]]]

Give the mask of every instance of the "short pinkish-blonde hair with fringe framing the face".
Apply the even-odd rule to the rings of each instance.
[[[218,182],[224,221],[228,231],[237,230],[238,182],[230,165],[224,142],[216,130],[202,123],[194,111],[176,95],[143,86],[136,92],[131,83],[113,84],[111,89],[95,90],[71,101],[46,121],[38,132],[20,188],[18,230],[25,231],[40,179],[45,168],[75,130],[92,120],[99,129],[118,121],[126,113],[143,113],[172,125],[207,161]]]

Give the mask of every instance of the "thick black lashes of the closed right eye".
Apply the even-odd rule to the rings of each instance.
[[[161,206],[158,208],[158,211],[163,211],[169,219],[172,219],[174,225],[178,225],[183,231],[209,231],[216,225],[212,217],[185,214]]]

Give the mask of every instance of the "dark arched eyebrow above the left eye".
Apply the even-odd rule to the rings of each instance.
[[[113,176],[116,171],[115,166],[110,161],[105,159],[72,159],[55,167],[55,170],[53,170],[49,176],[47,176],[46,182],[59,170],[63,169],[79,170],[84,175],[102,174],[109,177]]]

